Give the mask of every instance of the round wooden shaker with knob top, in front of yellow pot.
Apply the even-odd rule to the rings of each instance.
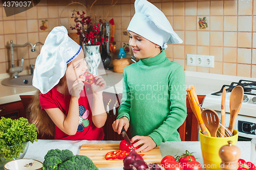
[[[219,156],[222,160],[220,167],[222,170],[237,170],[239,168],[238,160],[240,158],[240,149],[232,145],[232,141],[228,141],[228,145],[224,145],[219,150]]]

